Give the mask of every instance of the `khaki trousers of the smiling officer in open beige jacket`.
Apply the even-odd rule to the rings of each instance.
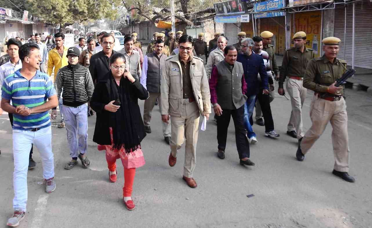
[[[191,178],[196,166],[196,144],[198,143],[199,133],[199,108],[196,102],[182,104],[182,116],[170,116],[172,136],[170,150],[173,157],[177,157],[178,150],[182,147],[184,138],[185,145],[185,164],[183,175]]]

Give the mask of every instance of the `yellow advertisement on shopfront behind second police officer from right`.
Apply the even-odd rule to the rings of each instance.
[[[310,11],[296,13],[295,19],[291,20],[291,28],[295,29],[295,33],[298,31],[304,31],[306,33],[306,44],[307,48],[314,50],[315,56],[320,56],[321,49],[321,13],[319,11]],[[293,15],[292,15],[293,18]],[[294,25],[293,25],[294,22]],[[293,36],[294,31],[291,29],[291,37]],[[293,47],[293,40],[291,42],[291,47]]]

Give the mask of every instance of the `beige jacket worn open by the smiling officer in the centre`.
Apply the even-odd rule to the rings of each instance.
[[[190,56],[190,78],[195,99],[202,115],[211,113],[211,94],[201,58]],[[182,68],[179,55],[169,56],[161,75],[160,113],[180,117],[183,107]]]

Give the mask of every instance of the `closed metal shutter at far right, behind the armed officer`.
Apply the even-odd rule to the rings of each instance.
[[[352,65],[353,51],[353,4],[346,6],[346,40],[344,40],[344,4],[337,4],[334,16],[334,36],[341,39],[338,57]],[[372,3],[368,0],[355,3],[355,45],[354,65],[372,69]]]

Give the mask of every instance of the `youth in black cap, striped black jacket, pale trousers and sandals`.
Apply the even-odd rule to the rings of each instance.
[[[77,158],[84,168],[90,164],[86,157],[88,150],[88,101],[92,98],[94,84],[88,68],[79,64],[80,50],[71,47],[67,51],[68,65],[58,70],[54,86],[58,99],[63,88],[62,113],[67,130],[71,161],[65,169],[77,165]],[[55,118],[52,116],[52,118]]]

